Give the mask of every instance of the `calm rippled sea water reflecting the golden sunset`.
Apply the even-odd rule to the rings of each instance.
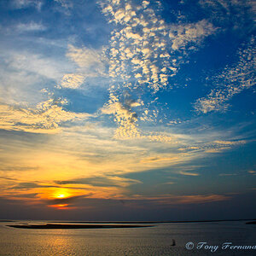
[[[0,255],[256,255],[256,225],[246,221],[159,223],[153,227],[96,230],[7,227],[45,223],[53,222],[0,223]]]

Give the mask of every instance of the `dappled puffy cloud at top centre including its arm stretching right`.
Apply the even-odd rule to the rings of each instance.
[[[168,77],[177,73],[177,59],[170,55],[170,48],[181,49],[192,42],[201,44],[216,29],[207,20],[168,25],[154,9],[145,8],[148,3],[145,1],[141,8],[131,1],[102,2],[102,12],[109,22],[120,25],[110,40],[110,76],[126,82],[136,77],[138,84],[148,84],[156,92],[165,88]]]

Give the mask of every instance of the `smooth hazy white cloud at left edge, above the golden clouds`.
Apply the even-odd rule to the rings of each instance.
[[[10,105],[44,101],[40,90],[46,87],[50,91],[67,70],[74,69],[61,56],[9,49],[0,51],[0,67],[0,99]]]

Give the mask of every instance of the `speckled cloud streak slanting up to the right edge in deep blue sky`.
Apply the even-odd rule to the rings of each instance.
[[[206,97],[202,97],[195,102],[196,112],[225,112],[230,106],[227,102],[233,96],[255,85],[254,41],[254,38],[251,38],[247,48],[239,51],[239,61],[234,67],[225,67],[223,73],[213,78],[215,88]]]

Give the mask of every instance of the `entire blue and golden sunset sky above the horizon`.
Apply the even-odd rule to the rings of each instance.
[[[253,0],[2,0],[0,218],[255,218]]]

